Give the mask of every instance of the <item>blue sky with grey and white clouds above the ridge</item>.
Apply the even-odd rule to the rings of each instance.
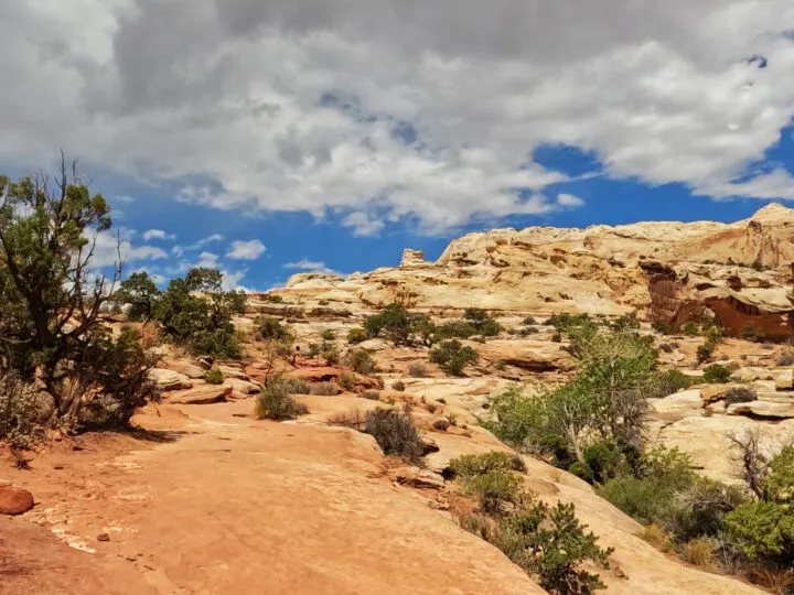
[[[0,173],[79,159],[126,272],[161,284],[794,201],[791,0],[15,0],[0,22]]]

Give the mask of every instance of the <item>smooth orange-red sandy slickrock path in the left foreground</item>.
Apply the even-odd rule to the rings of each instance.
[[[0,524],[0,555],[15,569],[0,566],[0,593],[543,592],[395,487],[366,436],[236,416],[250,405],[161,408],[141,418],[146,439],[94,435],[32,472],[0,470],[39,502]]]

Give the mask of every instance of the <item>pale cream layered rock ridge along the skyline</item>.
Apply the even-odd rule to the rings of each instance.
[[[273,293],[331,316],[395,301],[439,315],[465,307],[501,315],[636,311],[676,325],[710,311],[733,335],[757,329],[782,338],[794,322],[792,239],[794,210],[776,204],[734,224],[495,229],[452,241],[436,262],[406,250],[399,267],[347,278],[297,274]]]

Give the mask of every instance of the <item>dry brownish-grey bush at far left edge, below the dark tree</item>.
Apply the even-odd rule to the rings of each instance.
[[[33,385],[13,374],[0,378],[0,440],[17,448],[30,448],[43,437],[43,414],[42,397]]]

